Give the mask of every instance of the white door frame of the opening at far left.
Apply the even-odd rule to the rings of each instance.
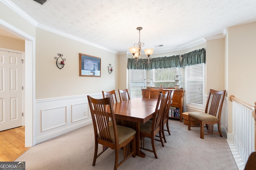
[[[0,27],[25,40],[24,55],[24,121],[25,147],[36,145],[35,138],[35,47],[36,39],[24,31],[0,19]],[[36,29],[36,27],[35,27]]]

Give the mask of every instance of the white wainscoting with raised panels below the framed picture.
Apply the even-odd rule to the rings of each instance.
[[[36,144],[92,123],[87,95],[102,98],[102,93],[36,100]]]

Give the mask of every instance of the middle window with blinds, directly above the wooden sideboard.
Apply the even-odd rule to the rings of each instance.
[[[153,69],[153,87],[174,87],[177,68]]]

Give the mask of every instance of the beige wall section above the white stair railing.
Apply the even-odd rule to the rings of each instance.
[[[228,28],[228,95],[256,102],[256,22]]]

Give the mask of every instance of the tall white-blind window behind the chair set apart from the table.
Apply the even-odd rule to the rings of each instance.
[[[204,64],[186,66],[186,104],[204,104]]]

